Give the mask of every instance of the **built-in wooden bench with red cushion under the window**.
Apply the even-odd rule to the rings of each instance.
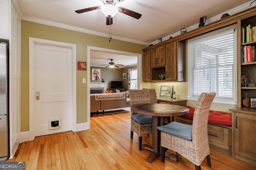
[[[174,117],[174,121],[192,125],[194,107],[189,108],[189,113]],[[208,141],[209,147],[223,154],[231,156],[232,114],[223,111],[209,112],[208,118]]]

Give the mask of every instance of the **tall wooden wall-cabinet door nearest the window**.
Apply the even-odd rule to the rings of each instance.
[[[166,45],[166,80],[177,80],[176,42]]]

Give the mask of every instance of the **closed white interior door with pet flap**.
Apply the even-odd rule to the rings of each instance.
[[[35,136],[72,130],[72,49],[35,44]],[[60,128],[49,129],[59,119]]]

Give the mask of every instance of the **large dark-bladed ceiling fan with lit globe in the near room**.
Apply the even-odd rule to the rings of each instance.
[[[81,10],[76,10],[75,12],[78,14],[81,14],[83,12],[88,12],[92,10],[98,10],[101,9],[101,11],[104,13],[104,15],[107,17],[106,24],[112,25],[113,24],[113,17],[116,15],[117,12],[121,12],[123,14],[126,14],[128,16],[131,16],[136,19],[140,19],[142,16],[141,14],[128,10],[124,7],[116,7],[115,5],[123,2],[124,0],[101,0],[103,2],[103,6],[93,6],[90,8],[84,8]]]

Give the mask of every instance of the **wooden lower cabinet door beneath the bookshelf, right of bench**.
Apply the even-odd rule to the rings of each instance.
[[[234,157],[256,166],[256,115],[234,114]]]

